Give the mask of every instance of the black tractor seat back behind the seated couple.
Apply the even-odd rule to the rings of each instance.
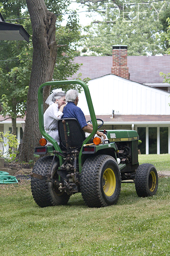
[[[86,139],[76,118],[62,118],[58,121],[60,146],[62,148],[79,149]]]

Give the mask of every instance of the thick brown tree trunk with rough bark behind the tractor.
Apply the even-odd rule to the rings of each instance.
[[[26,125],[19,160],[29,162],[34,159],[34,148],[39,145],[41,134],[38,123],[38,88],[51,81],[57,57],[55,41],[56,16],[49,12],[44,0],[26,0],[33,30],[33,61],[28,90]],[[45,98],[50,88],[45,90]]]

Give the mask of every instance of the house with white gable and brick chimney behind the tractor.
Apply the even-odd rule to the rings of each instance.
[[[83,64],[78,71],[82,79],[91,79],[94,111],[104,120],[103,129],[134,129],[142,154],[170,154],[170,84],[159,75],[170,72],[170,55],[127,56],[127,46],[113,46],[113,56],[74,61]],[[90,119],[84,92],[78,106]]]

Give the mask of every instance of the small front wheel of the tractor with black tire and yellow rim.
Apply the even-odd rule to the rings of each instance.
[[[135,188],[139,197],[153,196],[158,189],[158,174],[155,166],[143,163],[138,166],[135,174]]]

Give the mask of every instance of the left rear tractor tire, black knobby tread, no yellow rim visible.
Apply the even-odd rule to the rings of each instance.
[[[53,156],[41,157],[35,163],[32,172],[47,176],[51,169]],[[54,165],[52,167],[51,178],[58,178],[57,169],[59,166],[59,160],[56,157]],[[54,205],[65,205],[68,203],[70,195],[65,192],[60,192],[58,186],[46,180],[40,180],[31,177],[31,192],[33,198],[40,207],[48,207]]]

